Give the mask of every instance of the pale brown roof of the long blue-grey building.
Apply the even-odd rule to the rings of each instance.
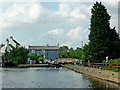
[[[29,46],[29,49],[35,49],[35,50],[56,50],[59,49],[58,46]]]

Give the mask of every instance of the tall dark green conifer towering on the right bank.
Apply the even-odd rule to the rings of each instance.
[[[96,2],[91,9],[91,24],[90,24],[90,43],[85,50],[92,62],[102,62],[108,56],[109,58],[118,58],[117,49],[120,39],[115,28],[110,28],[110,15],[105,6],[100,2]],[[115,50],[114,50],[115,49]],[[87,55],[87,54],[85,54]],[[86,59],[87,60],[87,59]]]

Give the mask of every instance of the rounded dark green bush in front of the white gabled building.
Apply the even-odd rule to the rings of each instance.
[[[7,52],[7,50],[5,50],[5,54],[2,56],[2,60],[12,60],[13,64],[17,66],[19,64],[24,64],[25,61],[27,61],[27,55],[28,50],[26,48],[17,47],[10,50],[10,52]]]

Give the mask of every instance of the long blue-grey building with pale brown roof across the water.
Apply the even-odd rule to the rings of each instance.
[[[43,54],[44,59],[58,59],[59,58],[59,45],[58,46],[29,46],[29,55],[32,53]]]

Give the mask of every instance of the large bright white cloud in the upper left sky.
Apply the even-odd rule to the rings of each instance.
[[[0,8],[2,19],[0,24],[2,24],[3,28],[33,23],[37,21],[42,13],[42,6],[39,3],[11,3],[6,7]]]

